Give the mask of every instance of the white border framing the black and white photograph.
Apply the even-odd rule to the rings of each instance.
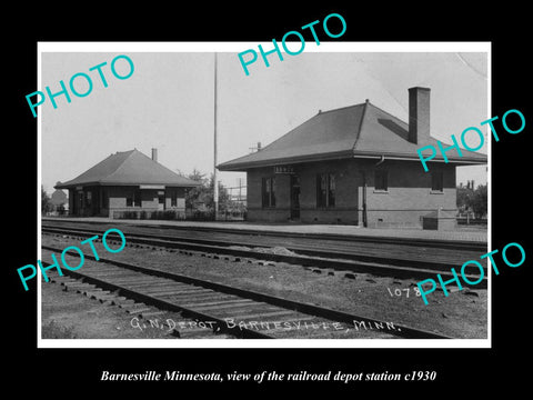
[[[43,52],[241,52],[257,49],[258,44],[272,42],[38,42],[37,82],[41,82],[41,56]],[[491,118],[491,42],[331,42],[320,46],[305,42],[306,52],[486,52],[487,53],[487,114]],[[38,257],[41,259],[41,118],[38,112]],[[480,121],[481,122],[481,121]],[[487,136],[487,186],[492,192],[492,140]],[[492,250],[492,196],[489,196],[487,246]],[[38,348],[491,348],[492,347],[492,271],[487,283],[487,339],[41,339],[41,279],[38,279],[37,296],[37,346]],[[38,273],[39,277],[40,272]]]

